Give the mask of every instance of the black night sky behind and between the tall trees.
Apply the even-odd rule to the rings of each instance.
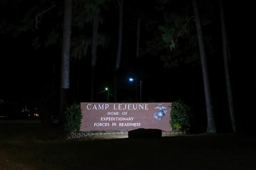
[[[168,1],[168,0],[167,0]],[[82,1],[81,1],[82,2]],[[162,1],[163,2],[163,1]],[[181,13],[187,8],[187,14],[193,16],[191,1],[171,1],[170,11]],[[231,65],[230,75],[234,97],[234,107],[237,119],[241,119],[240,126],[247,126],[250,118],[255,113],[255,52],[254,49],[254,12],[251,2],[232,1],[225,3],[227,31],[230,41]],[[27,0],[3,0],[0,3],[0,99],[5,102],[15,102],[20,105],[37,105],[38,102],[54,98],[58,108],[60,91],[60,59],[63,23],[63,2],[55,1],[56,6],[39,17],[39,29],[35,28],[35,16],[52,6],[52,2],[40,0],[30,2]],[[163,13],[168,11],[156,10],[160,0],[124,1],[123,14],[123,40],[122,57],[119,75],[119,102],[134,102],[134,82],[129,82],[129,77],[136,74],[142,80],[142,102],[173,102],[183,100],[192,107],[197,119],[206,119],[204,86],[200,60],[195,64],[166,68],[161,59],[163,51],[158,54],[146,54],[147,42],[153,40],[154,34],[159,33],[159,25],[165,20]],[[207,64],[212,91],[212,102],[217,125],[230,124],[226,85],[224,77],[224,63],[222,55],[221,25],[218,1],[198,0],[199,12],[202,18],[207,18],[210,23],[203,25],[203,35],[211,35],[211,48],[206,45]],[[167,7],[166,7],[167,8]],[[136,59],[136,31],[137,14],[140,12],[143,20],[140,28],[141,55]],[[76,19],[76,7],[73,6],[73,20]],[[117,2],[109,3],[108,8],[102,8],[102,23],[99,24],[99,34],[106,36],[105,45],[97,48],[95,102],[106,102],[107,93],[98,93],[109,87],[110,93],[114,89],[114,68],[118,42],[119,8]],[[152,23],[150,23],[150,20]],[[154,21],[154,22],[153,22]],[[26,27],[27,29],[23,29]],[[189,23],[191,30],[195,30],[194,21]],[[47,37],[52,30],[58,34],[50,45],[46,45]],[[20,31],[23,30],[23,31]],[[84,23],[82,30],[73,23],[72,41],[74,37],[85,36],[91,38],[92,24]],[[35,45],[38,37],[40,46]],[[158,42],[157,42],[158,43]],[[179,40],[181,51],[186,42]],[[195,41],[195,43],[198,43]],[[74,49],[76,45],[71,47]],[[188,49],[188,48],[186,48]],[[176,48],[175,48],[176,50]],[[193,53],[198,50],[186,51]],[[144,52],[144,53],[143,53]],[[90,58],[91,50],[81,59],[80,82],[78,102],[90,102]],[[254,60],[253,60],[254,59]],[[73,58],[71,58],[71,62]],[[138,71],[135,65],[140,65]],[[70,68],[70,89],[76,81],[76,69]],[[137,86],[139,88],[139,86]],[[43,99],[42,99],[43,98]],[[110,96],[110,102],[113,102]],[[56,109],[57,110],[57,109]],[[246,117],[246,118],[245,118]],[[204,122],[204,121],[202,121]],[[217,122],[217,121],[216,121]],[[204,125],[204,123],[202,123]],[[218,128],[218,126],[217,126]],[[227,129],[230,130],[231,126]]]

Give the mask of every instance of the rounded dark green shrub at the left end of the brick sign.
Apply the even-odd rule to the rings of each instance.
[[[64,132],[78,132],[81,126],[82,111],[79,104],[67,106],[63,115]]]

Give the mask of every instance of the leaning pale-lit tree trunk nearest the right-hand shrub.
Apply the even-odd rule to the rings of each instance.
[[[195,13],[195,25],[198,34],[198,44],[201,56],[201,65],[202,65],[202,72],[203,72],[203,81],[204,81],[204,95],[205,95],[205,103],[206,103],[206,110],[207,110],[207,132],[208,133],[215,133],[215,120],[214,114],[212,109],[212,96],[210,91],[210,84],[209,84],[209,76],[207,71],[207,61],[206,61],[206,54],[204,49],[204,40],[201,28],[201,21],[199,18],[199,10],[196,0],[192,0],[194,13]]]

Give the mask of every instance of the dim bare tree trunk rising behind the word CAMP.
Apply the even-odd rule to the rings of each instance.
[[[94,77],[95,77],[95,65],[97,59],[97,40],[98,40],[98,28],[99,28],[99,14],[98,11],[93,16],[93,39],[92,39],[92,59],[91,59],[91,102],[94,102]]]

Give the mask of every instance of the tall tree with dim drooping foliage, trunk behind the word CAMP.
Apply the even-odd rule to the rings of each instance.
[[[94,101],[95,98],[95,73],[96,73],[96,61],[97,61],[97,47],[98,45],[105,46],[106,34],[99,34],[99,23],[103,22],[104,12],[110,8],[111,0],[74,0],[74,25],[79,28],[79,34],[76,36],[76,40],[73,41],[73,57],[83,57],[87,54],[87,49],[91,47],[91,82],[90,82],[90,100]],[[102,14],[103,13],[103,14]],[[92,24],[92,37],[88,37],[88,31]],[[86,31],[85,31],[86,30]],[[74,37],[74,36],[73,36]],[[82,54],[79,54],[79,53]],[[79,63],[78,63],[79,65]],[[78,76],[79,78],[79,76]],[[78,83],[78,82],[77,82]]]

